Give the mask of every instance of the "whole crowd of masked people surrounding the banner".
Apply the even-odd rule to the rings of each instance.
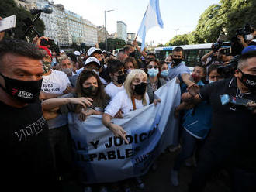
[[[256,191],[254,42],[241,42],[237,67],[226,77],[219,69],[236,58],[222,48],[207,53],[191,71],[180,46],[165,60],[158,60],[154,53],[140,50],[136,40],[113,55],[97,47],[86,53],[56,53],[50,46],[42,46],[42,39],[48,40],[36,36],[33,43],[0,41],[2,170],[6,183],[13,181],[8,188],[58,191],[60,180],[78,180],[67,114],[77,113],[80,121],[102,115],[102,124],[128,143],[126,131],[112,118],[158,105],[161,100],[155,98],[155,91],[175,79],[182,92],[175,108],[181,147],[170,146],[170,150],[179,149],[170,182],[178,186],[180,168],[194,159],[189,191],[203,191],[219,170],[230,174],[232,191]],[[222,105],[223,94],[247,99],[247,103]],[[141,177],[131,180],[144,189]],[[129,183],[123,181],[121,189],[113,183],[112,190],[131,191]],[[85,191],[93,191],[93,187],[85,185]],[[106,185],[100,191],[108,191]]]

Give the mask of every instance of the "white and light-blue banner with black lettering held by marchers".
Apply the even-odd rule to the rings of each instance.
[[[113,122],[126,130],[126,138],[115,138],[102,125],[101,115],[91,115],[80,122],[68,115],[75,153],[75,163],[84,183],[107,183],[147,173],[157,156],[178,141],[178,119],[174,109],[180,103],[180,87],[175,79],[155,92],[161,103],[131,111]]]

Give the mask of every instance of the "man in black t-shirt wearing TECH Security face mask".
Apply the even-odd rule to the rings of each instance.
[[[42,58],[33,44],[0,42],[1,187],[8,191],[58,191],[39,101]]]

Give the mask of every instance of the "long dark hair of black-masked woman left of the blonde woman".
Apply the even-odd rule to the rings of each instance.
[[[104,87],[102,85],[102,81],[99,79],[99,76],[97,74],[95,74],[95,72],[92,70],[85,69],[85,70],[81,71],[81,74],[79,74],[78,80],[77,80],[77,83],[75,86],[75,93],[78,95],[78,98],[88,97],[88,95],[83,94],[82,89],[83,89],[83,84],[90,77],[95,77],[97,79],[97,83],[98,83],[98,91],[96,93],[95,98],[93,98],[92,105],[94,107],[106,108],[106,105],[109,101],[109,96],[106,94]],[[81,105],[78,106],[76,112],[79,112],[80,110],[81,110]]]

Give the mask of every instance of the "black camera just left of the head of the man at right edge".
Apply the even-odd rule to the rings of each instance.
[[[227,65],[218,67],[217,68],[218,74],[220,74],[224,78],[232,77],[235,74],[235,70],[237,70],[239,59],[240,59],[240,55],[237,55]]]

